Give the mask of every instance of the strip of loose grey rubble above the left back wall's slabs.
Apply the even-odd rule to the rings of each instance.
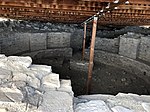
[[[5,19],[0,22],[0,32],[73,32],[77,24],[62,24],[40,21],[23,21]]]

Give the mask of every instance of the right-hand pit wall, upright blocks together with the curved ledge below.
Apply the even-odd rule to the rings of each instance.
[[[124,69],[150,84],[150,36],[128,32],[118,38],[96,39],[94,61]],[[86,51],[89,58],[89,50]]]

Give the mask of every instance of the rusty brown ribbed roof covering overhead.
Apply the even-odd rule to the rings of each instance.
[[[122,0],[120,0],[122,1]],[[0,16],[81,23],[114,0],[0,0]],[[149,24],[150,0],[129,0],[100,19],[101,24]],[[112,5],[116,7],[116,5]]]

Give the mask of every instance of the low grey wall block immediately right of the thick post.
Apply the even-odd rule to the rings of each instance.
[[[119,51],[119,39],[107,39],[107,38],[96,38],[95,49],[103,50],[112,53],[118,53]]]

